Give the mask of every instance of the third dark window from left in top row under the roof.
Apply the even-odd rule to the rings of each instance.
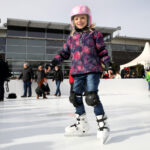
[[[47,38],[63,39],[63,30],[48,29]]]

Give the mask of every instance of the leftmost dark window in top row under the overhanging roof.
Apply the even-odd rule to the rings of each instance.
[[[26,36],[26,27],[8,26],[7,35]]]

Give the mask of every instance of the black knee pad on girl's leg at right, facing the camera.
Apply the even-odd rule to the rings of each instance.
[[[87,105],[89,106],[96,106],[100,103],[99,97],[97,95],[97,92],[87,92],[86,93],[86,97],[85,97],[85,101],[87,103]]]

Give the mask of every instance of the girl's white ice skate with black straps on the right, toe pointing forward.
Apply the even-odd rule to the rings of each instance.
[[[108,137],[110,129],[107,124],[107,117],[105,115],[98,115],[96,116],[96,121],[98,124],[98,130],[97,130],[97,138],[100,139],[101,144],[105,144]]]

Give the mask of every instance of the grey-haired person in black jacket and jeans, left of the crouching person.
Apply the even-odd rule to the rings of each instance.
[[[24,63],[23,65],[23,71],[18,77],[18,79],[23,80],[24,83],[24,94],[21,97],[27,97],[27,91],[28,91],[28,97],[32,96],[32,89],[31,89],[31,84],[33,80],[33,71],[32,68],[29,67],[28,63]]]

